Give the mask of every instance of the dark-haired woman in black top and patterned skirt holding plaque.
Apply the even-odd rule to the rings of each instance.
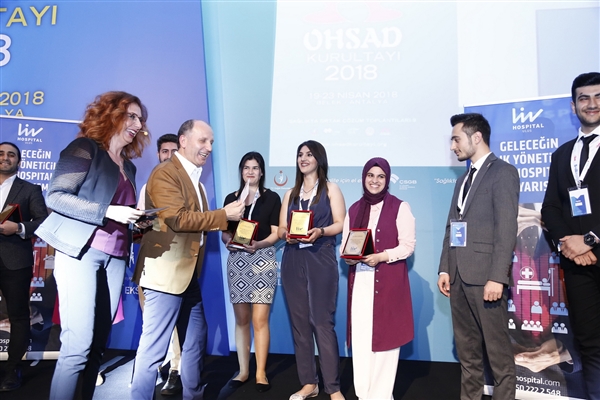
[[[222,240],[230,251],[227,259],[229,299],[235,314],[235,345],[240,370],[229,382],[238,388],[250,374],[250,322],[254,328],[256,390],[271,388],[266,364],[269,352],[269,313],[277,284],[277,224],[281,200],[265,189],[265,161],[260,153],[250,152],[239,165],[240,187],[225,198],[225,205],[246,202],[244,219],[230,222]],[[244,197],[244,198],[241,198]],[[257,225],[258,224],[258,225]]]

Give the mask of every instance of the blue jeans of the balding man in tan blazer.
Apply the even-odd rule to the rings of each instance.
[[[200,380],[206,348],[206,319],[200,285],[192,278],[179,295],[143,288],[142,336],[135,357],[132,400],[152,400],[157,370],[167,354],[173,328],[177,326],[182,345],[179,373],[183,400],[202,400],[204,386]]]

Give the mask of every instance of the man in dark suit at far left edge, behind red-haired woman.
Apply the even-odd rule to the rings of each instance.
[[[33,277],[33,232],[48,216],[39,185],[17,177],[21,151],[10,142],[0,143],[0,210],[9,204],[19,208],[0,220],[0,290],[10,321],[10,343],[0,392],[21,386],[19,361],[29,345],[29,287]],[[20,218],[19,218],[20,216]]]

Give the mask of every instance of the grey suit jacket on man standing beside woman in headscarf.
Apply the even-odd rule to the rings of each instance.
[[[457,272],[470,285],[488,280],[511,283],[512,255],[517,238],[519,175],[516,168],[494,153],[485,160],[471,186],[462,221],[467,222],[466,247],[450,247],[450,221],[459,220],[458,196],[467,172],[458,179],[450,203],[438,272]]]

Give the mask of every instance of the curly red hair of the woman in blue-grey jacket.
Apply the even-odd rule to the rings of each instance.
[[[104,150],[108,150],[111,138],[123,129],[128,117],[130,104],[137,104],[142,110],[142,128],[133,141],[123,149],[123,156],[132,159],[142,156],[144,147],[150,143],[150,133],[146,126],[148,110],[142,101],[126,92],[106,92],[96,96],[85,110],[83,122],[79,124],[79,136],[90,138]]]

